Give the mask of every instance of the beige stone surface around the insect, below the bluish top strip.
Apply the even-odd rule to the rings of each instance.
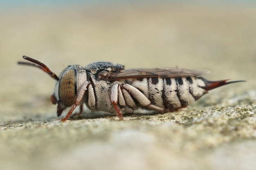
[[[0,11],[0,169],[255,169],[256,6],[140,4]],[[189,109],[59,123],[54,80],[19,66],[22,55],[59,74],[110,61],[179,66],[209,80]]]

